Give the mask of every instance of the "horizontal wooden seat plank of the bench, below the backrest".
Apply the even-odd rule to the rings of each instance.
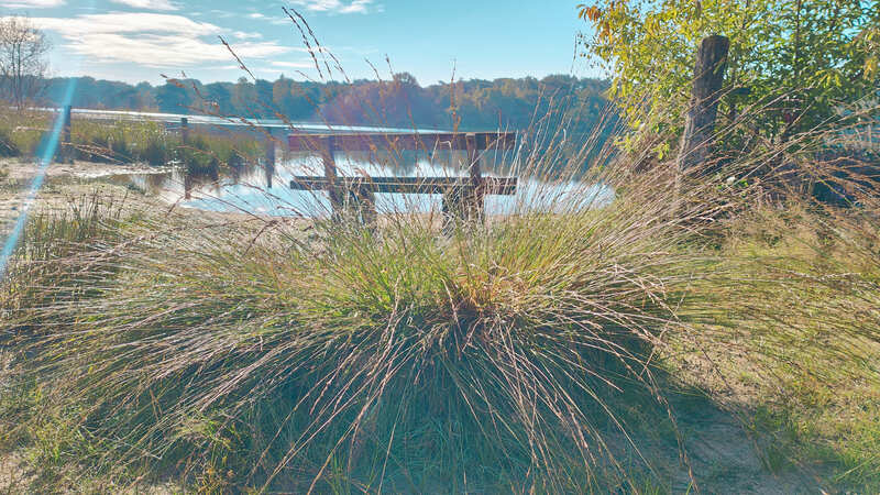
[[[369,193],[444,194],[450,189],[473,191],[470,177],[336,177],[334,184],[346,189]],[[510,196],[516,194],[517,177],[483,177],[483,194]],[[295,190],[330,188],[326,177],[298,175],[290,180]]]

